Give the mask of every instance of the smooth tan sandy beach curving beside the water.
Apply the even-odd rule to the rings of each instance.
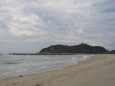
[[[115,86],[115,54],[59,70],[0,80],[0,86]]]

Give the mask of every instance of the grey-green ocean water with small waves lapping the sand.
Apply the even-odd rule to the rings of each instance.
[[[89,57],[91,55],[0,55],[0,79],[60,69]]]

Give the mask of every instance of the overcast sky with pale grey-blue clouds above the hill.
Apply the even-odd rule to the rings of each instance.
[[[115,0],[0,0],[0,53],[79,43],[115,49]]]

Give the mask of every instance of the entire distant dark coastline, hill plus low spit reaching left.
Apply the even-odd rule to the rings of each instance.
[[[79,45],[51,45],[37,53],[9,53],[9,55],[75,55],[75,54],[115,54],[102,46],[91,46],[85,43]]]

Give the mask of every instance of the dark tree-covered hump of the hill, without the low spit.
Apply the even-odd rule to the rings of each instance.
[[[47,48],[42,49],[39,54],[77,54],[77,53],[87,53],[87,54],[102,54],[108,53],[102,46],[91,46],[85,43],[79,45],[67,46],[67,45],[52,45]]]

